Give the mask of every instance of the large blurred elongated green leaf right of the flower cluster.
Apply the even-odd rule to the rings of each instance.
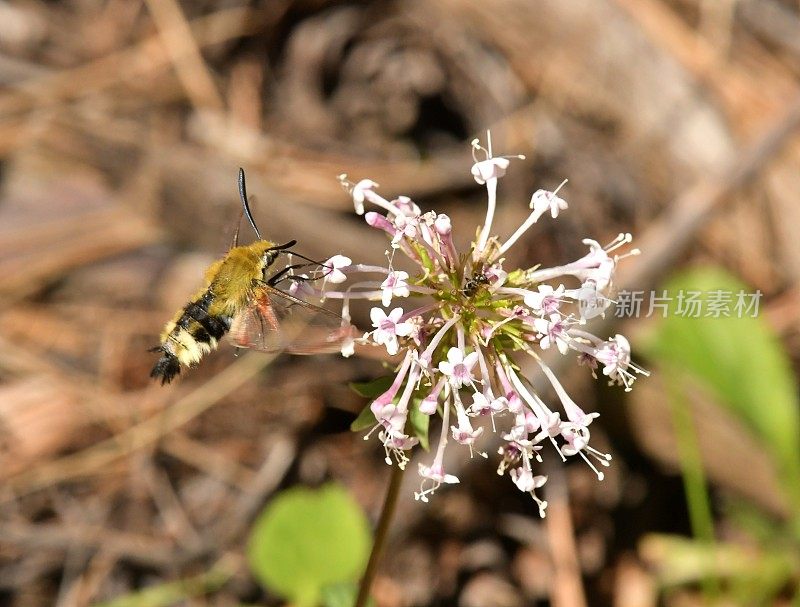
[[[780,470],[790,499],[800,502],[800,403],[791,365],[780,340],[763,318],[734,309],[737,293],[754,290],[719,268],[697,268],[665,285],[673,304],[646,352],[657,362],[686,372],[712,390],[753,431]],[[683,290],[700,291],[702,313],[709,294],[733,293],[730,317],[689,318],[676,312]]]

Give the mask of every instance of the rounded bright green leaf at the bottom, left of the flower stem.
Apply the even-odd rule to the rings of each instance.
[[[266,588],[313,607],[325,586],[357,580],[371,545],[369,523],[339,485],[280,493],[256,520],[247,558]]]

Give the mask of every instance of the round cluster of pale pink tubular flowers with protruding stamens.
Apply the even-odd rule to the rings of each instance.
[[[470,457],[487,457],[480,450],[484,425],[477,420],[489,418],[491,428],[501,432],[506,442],[499,451],[498,473],[508,471],[544,516],[547,502],[537,496],[536,489],[547,479],[534,472],[535,462],[542,461],[543,443],[551,443],[562,460],[582,458],[598,479],[603,478],[601,468],[609,465],[611,456],[589,444],[589,427],[597,413],[586,413],[570,398],[541,352],[572,352],[593,374],[599,369],[609,382],[625,390],[630,390],[638,374],[646,374],[631,362],[625,337],[604,340],[585,330],[586,320],[603,314],[612,303],[618,261],[638,251],[614,254],[631,241],[630,234],[620,234],[607,246],[584,240],[587,254],[563,266],[504,268],[505,253],[533,224],[545,215],[556,218],[567,209],[558,195],[564,184],[554,192],[536,191],[527,219],[505,240],[498,238],[492,235],[497,183],[518,157],[493,156],[491,140],[486,148],[478,140],[472,145],[472,175],[485,185],[488,203],[484,225],[469,250],[456,250],[447,215],[423,213],[406,196],[387,200],[378,194],[374,181],[351,183],[342,175],[356,212],[387,234],[389,263],[386,267],[359,265],[336,256],[326,264],[330,271],[322,295],[342,300],[347,326],[352,299],[381,303],[371,312],[373,329],[347,340],[342,352],[351,354],[359,341],[386,348],[400,359],[391,385],[370,404],[375,424],[365,437],[377,432],[387,463],[405,466],[407,452],[419,443],[410,415],[441,417],[433,459],[419,466],[422,483],[417,499],[428,501],[443,483],[459,482],[443,469],[451,441],[465,446]],[[367,205],[377,210],[367,212]],[[413,276],[394,269],[398,252],[418,268]],[[568,287],[562,280],[573,284]],[[515,362],[520,356],[530,357],[541,368],[560,409],[545,403],[521,374]]]

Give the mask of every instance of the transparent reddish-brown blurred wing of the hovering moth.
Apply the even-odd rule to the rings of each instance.
[[[345,334],[337,314],[262,285],[233,318],[229,338],[237,348],[321,354],[338,351]]]

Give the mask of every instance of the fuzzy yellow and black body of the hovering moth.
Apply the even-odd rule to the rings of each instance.
[[[205,281],[186,306],[179,310],[161,333],[161,352],[150,377],[169,383],[181,367],[193,367],[216,349],[231,327],[231,321],[249,303],[254,288],[264,280],[280,249],[259,240],[234,247],[206,270]]]

